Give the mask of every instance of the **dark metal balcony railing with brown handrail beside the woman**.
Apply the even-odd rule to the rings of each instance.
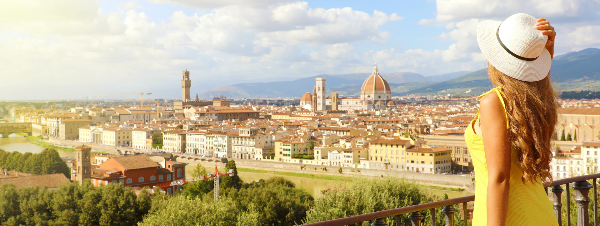
[[[591,175],[583,175],[583,176],[575,176],[572,178],[565,178],[553,181],[549,186],[545,186],[544,190],[546,194],[548,194],[548,188],[551,188],[550,191],[553,193],[553,207],[554,214],[556,215],[556,219],[559,222],[559,225],[562,225],[562,193],[563,188],[560,185],[566,185],[568,188],[569,185],[571,188],[575,190],[574,201],[577,203],[577,226],[589,226],[589,203],[590,197],[588,197],[589,190],[593,188],[593,207],[594,207],[594,224],[598,226],[598,200],[596,200],[596,194],[598,194],[597,179],[600,178],[600,173],[591,174]],[[593,180],[592,184],[587,182],[588,180]],[[569,197],[571,197],[570,189],[566,190],[566,225],[571,225],[571,202],[569,201]],[[424,204],[416,204],[414,206],[406,206],[400,207],[396,209],[388,209],[381,210],[373,213],[365,213],[356,216],[349,216],[346,218],[339,219],[331,219],[329,221],[321,221],[314,222],[310,224],[304,224],[301,226],[344,226],[344,225],[352,225],[358,224],[362,225],[363,222],[371,222],[371,226],[384,226],[388,225],[385,222],[385,218],[390,216],[395,216],[397,226],[400,226],[400,218],[404,214],[409,214],[408,218],[410,219],[411,226],[419,226],[421,224],[421,220],[425,218],[421,212],[425,210],[431,211],[431,225],[436,225],[436,208],[442,207],[442,213],[445,218],[445,226],[454,226],[454,213],[458,212],[454,208],[454,204],[463,203],[463,219],[465,222],[465,226],[467,225],[467,202],[475,201],[475,196],[464,196],[458,198],[450,198],[441,201],[433,201],[431,203]]]

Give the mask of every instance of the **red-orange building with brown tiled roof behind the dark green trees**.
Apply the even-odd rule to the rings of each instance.
[[[164,160],[155,163],[146,155],[113,157],[92,169],[92,185],[98,187],[109,183],[121,183],[128,187],[155,187],[160,185],[168,194],[181,188],[169,182],[185,179],[185,165]]]

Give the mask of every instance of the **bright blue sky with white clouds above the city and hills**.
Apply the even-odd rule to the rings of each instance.
[[[0,100],[181,97],[319,74],[476,71],[482,20],[544,17],[556,54],[600,48],[599,0],[0,1]]]

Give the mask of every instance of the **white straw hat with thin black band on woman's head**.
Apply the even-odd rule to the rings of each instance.
[[[477,25],[477,43],[498,71],[521,81],[539,81],[550,72],[548,36],[535,29],[536,18],[517,13],[504,22],[484,20]]]

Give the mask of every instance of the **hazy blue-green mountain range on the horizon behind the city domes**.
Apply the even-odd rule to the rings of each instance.
[[[203,98],[224,94],[231,98],[252,97],[299,97],[312,92],[314,79],[327,79],[328,93],[333,91],[341,96],[358,96],[360,88],[370,73],[344,75],[317,75],[294,81],[271,83],[239,83],[223,85],[202,93]],[[392,90],[392,96],[407,94],[474,94],[487,91],[491,87],[485,69],[475,72],[460,71],[443,75],[424,77],[414,72],[394,72],[381,74]],[[550,75],[557,90],[600,90],[600,49],[586,48],[555,56]],[[598,81],[590,83],[590,81]]]

